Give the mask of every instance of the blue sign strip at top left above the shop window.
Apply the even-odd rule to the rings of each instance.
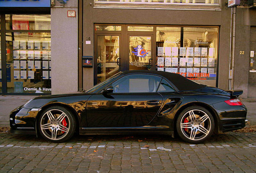
[[[50,7],[51,0],[0,0],[0,7]]]

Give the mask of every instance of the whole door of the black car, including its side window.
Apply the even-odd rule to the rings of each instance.
[[[143,127],[158,113],[163,97],[161,77],[129,74],[112,84],[113,93],[97,93],[87,101],[88,127]]]

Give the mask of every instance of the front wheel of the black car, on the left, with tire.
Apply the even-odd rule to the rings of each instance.
[[[40,135],[47,141],[61,143],[70,139],[76,130],[76,119],[66,108],[49,107],[39,115],[37,128]]]

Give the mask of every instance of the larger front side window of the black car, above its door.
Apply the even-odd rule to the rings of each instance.
[[[114,82],[113,93],[152,93],[157,91],[161,77],[149,74],[130,74]]]

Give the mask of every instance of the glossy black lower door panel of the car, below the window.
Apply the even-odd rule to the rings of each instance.
[[[155,102],[154,104],[147,104]],[[159,102],[159,104],[157,104]],[[142,127],[160,109],[158,93],[96,94],[87,102],[88,127]]]

